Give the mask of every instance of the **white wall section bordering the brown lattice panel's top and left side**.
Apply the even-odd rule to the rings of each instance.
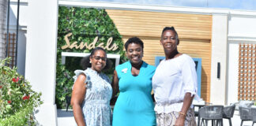
[[[256,12],[231,12],[228,20],[227,103],[238,102],[239,43],[256,44]]]

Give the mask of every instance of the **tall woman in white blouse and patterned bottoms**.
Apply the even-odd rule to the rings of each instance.
[[[152,77],[156,123],[158,126],[194,126],[191,103],[198,90],[194,61],[187,54],[178,52],[179,38],[174,27],[163,29],[160,43],[165,59]]]

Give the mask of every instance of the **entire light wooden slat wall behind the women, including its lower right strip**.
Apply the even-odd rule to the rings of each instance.
[[[184,13],[156,13],[107,9],[122,40],[138,36],[145,44],[143,60],[155,64],[156,56],[164,56],[160,34],[165,26],[175,26],[179,33],[179,52],[201,57],[201,97],[209,102],[211,73],[212,16]],[[198,51],[200,50],[200,51]]]

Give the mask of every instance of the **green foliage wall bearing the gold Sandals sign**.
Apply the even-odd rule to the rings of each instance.
[[[55,102],[58,108],[66,108],[66,96],[71,96],[73,71],[81,69],[81,57],[66,57],[62,64],[62,52],[90,53],[96,47],[104,47],[107,54],[120,54],[124,61],[122,36],[105,9],[59,6],[58,43]],[[115,65],[107,71],[111,76]]]

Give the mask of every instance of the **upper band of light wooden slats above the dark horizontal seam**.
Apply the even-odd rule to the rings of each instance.
[[[175,26],[180,38],[211,39],[212,17],[185,13],[157,13],[107,9],[121,35],[158,37],[165,26]]]

